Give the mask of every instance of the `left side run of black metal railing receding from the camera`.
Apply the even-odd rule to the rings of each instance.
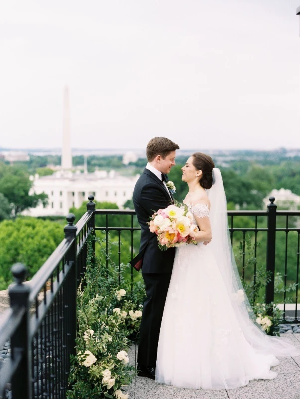
[[[0,346],[11,356],[1,362],[0,396],[10,383],[14,399],[66,398],[70,355],[75,354],[77,289],[84,277],[87,239],[94,234],[94,197],[76,226],[67,217],[65,238],[26,284],[26,268],[12,267],[10,308],[0,319]]]

